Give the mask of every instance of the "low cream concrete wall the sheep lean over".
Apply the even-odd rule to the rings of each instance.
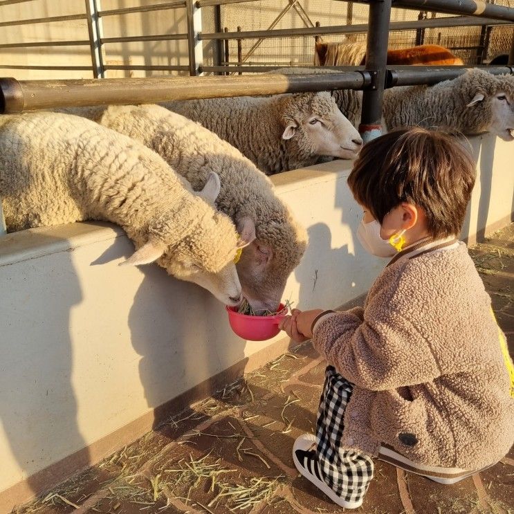
[[[472,146],[480,174],[465,237],[513,210],[514,144],[485,136]],[[337,160],[273,177],[309,230],[284,293],[301,309],[362,295],[387,262],[354,237],[362,212],[349,169]],[[174,398],[206,395],[286,348],[282,336],[239,339],[217,300],[158,266],[118,267],[132,250],[102,223],[0,239],[0,513],[150,430],[163,405],[181,405]]]

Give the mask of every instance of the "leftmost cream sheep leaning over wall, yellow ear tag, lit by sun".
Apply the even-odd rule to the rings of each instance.
[[[62,113],[0,116],[0,196],[9,231],[111,221],[137,250],[125,263],[157,261],[170,275],[241,302],[235,226],[212,207],[219,178],[192,192],[147,147]]]

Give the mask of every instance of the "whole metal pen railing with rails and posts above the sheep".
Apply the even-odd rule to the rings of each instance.
[[[0,6],[8,3],[31,0],[3,0]],[[219,5],[219,3],[236,3],[241,0],[193,0],[185,1],[187,10],[187,40],[190,55],[190,64],[187,67],[190,75],[199,75],[203,71],[226,70],[226,66],[202,66],[202,40],[228,39],[234,33],[205,34],[201,32],[201,6]],[[253,1],[253,0],[244,0]],[[363,1],[363,0],[362,0]],[[216,3],[214,3],[216,2]],[[419,8],[421,3],[424,9],[441,10],[457,15],[471,15],[477,24],[484,24],[486,18],[497,20],[500,23],[514,21],[514,8],[504,8],[493,4],[484,4],[477,0],[369,0],[369,21],[367,28],[367,50],[365,68],[337,68],[335,73],[313,75],[258,75],[252,77],[224,76],[224,77],[166,77],[166,78],[126,78],[102,80],[22,80],[12,78],[0,79],[0,113],[17,113],[30,109],[44,109],[51,107],[73,107],[95,104],[131,104],[138,102],[161,102],[166,100],[188,100],[192,98],[221,98],[241,95],[270,95],[277,93],[295,93],[300,91],[322,91],[331,89],[362,89],[362,116],[359,131],[362,138],[369,140],[380,134],[380,118],[382,111],[383,91],[386,87],[409,84],[432,84],[440,80],[457,77],[466,71],[459,66],[386,66],[387,42],[389,28],[393,30],[401,26],[390,23],[390,12],[394,7]],[[165,6],[165,7],[162,7]],[[145,6],[140,10],[152,10],[156,6]],[[159,8],[182,8],[184,2],[174,1],[160,4]],[[100,0],[86,0],[87,19],[91,40],[91,56],[95,76],[102,76],[106,69],[102,57],[102,44],[109,42],[102,36],[102,16],[113,15],[113,10],[100,10]],[[116,10],[116,14],[125,13],[125,10]],[[79,15],[77,15],[79,16]],[[82,16],[82,15],[80,15]],[[62,17],[61,17],[62,18]],[[50,18],[55,20],[54,18]],[[76,17],[73,19],[77,19]],[[457,24],[467,18],[450,18],[448,21],[437,20],[437,23]],[[26,20],[25,20],[26,21]],[[421,20],[427,24],[432,20]],[[39,22],[39,21],[38,21]],[[19,22],[6,22],[7,24],[21,24]],[[403,22],[401,22],[403,23]],[[409,24],[411,22],[408,22]],[[416,22],[412,22],[413,24]],[[418,22],[417,26],[420,22]],[[472,24],[469,19],[466,23]],[[490,21],[487,21],[490,24]],[[405,24],[404,24],[405,26]],[[451,26],[451,25],[450,25]],[[359,27],[362,30],[363,26]],[[341,30],[355,30],[354,28],[340,27]],[[320,34],[322,28],[306,28],[309,34]],[[402,30],[398,28],[398,30]],[[266,32],[266,31],[265,31]],[[275,30],[274,33],[281,31]],[[289,32],[289,34],[291,31]],[[245,37],[245,33],[235,33],[237,37]],[[251,36],[250,36],[251,34]],[[302,35],[304,32],[302,32]],[[176,35],[176,39],[179,39]],[[143,36],[142,36],[143,37]],[[153,37],[153,36],[152,36]],[[156,36],[168,37],[168,36]],[[246,37],[261,37],[261,31],[246,33]],[[149,37],[147,37],[149,38]],[[127,38],[111,38],[113,40]],[[129,40],[142,40],[141,37],[131,37]],[[511,49],[511,59],[514,59],[514,50]],[[514,64],[510,62],[510,64]],[[46,68],[55,68],[47,66]],[[69,67],[67,67],[69,68]],[[77,66],[75,67],[77,68]],[[111,66],[111,68],[127,69],[127,66]],[[148,66],[141,66],[145,69]],[[177,68],[176,66],[154,66],[158,69]],[[185,66],[181,66],[185,68]],[[232,68],[234,68],[232,66]],[[239,66],[237,69],[248,66]],[[260,67],[264,71],[271,67]],[[488,68],[491,73],[514,74],[514,66]],[[3,219],[0,217],[0,229]]]

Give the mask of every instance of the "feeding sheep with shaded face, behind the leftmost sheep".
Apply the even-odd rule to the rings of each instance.
[[[243,295],[255,311],[276,311],[307,235],[275,195],[270,179],[216,134],[158,105],[111,106],[100,118],[89,109],[82,113],[160,154],[194,189],[203,187],[209,172],[219,175],[217,208],[246,240],[255,237],[237,263]]]

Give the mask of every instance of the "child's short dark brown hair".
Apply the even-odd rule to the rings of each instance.
[[[474,184],[470,152],[455,137],[421,127],[367,143],[348,177],[356,201],[380,224],[400,203],[413,203],[434,238],[459,234]]]

